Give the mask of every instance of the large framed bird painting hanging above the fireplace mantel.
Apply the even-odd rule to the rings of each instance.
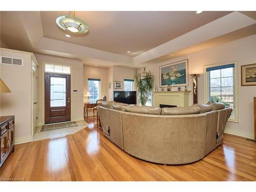
[[[188,86],[188,59],[159,67],[160,87]]]

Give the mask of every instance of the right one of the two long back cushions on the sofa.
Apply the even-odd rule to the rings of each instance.
[[[162,115],[188,115],[198,114],[201,109],[199,106],[184,106],[178,108],[162,108]]]

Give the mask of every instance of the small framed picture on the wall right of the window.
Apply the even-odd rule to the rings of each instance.
[[[256,63],[241,66],[241,86],[256,86]]]

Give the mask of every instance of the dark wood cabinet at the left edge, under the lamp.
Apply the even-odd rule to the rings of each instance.
[[[0,167],[11,152],[14,152],[14,116],[0,117],[1,156]]]

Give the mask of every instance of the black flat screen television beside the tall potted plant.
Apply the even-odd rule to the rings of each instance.
[[[136,91],[114,91],[114,101],[127,104],[137,104]]]

